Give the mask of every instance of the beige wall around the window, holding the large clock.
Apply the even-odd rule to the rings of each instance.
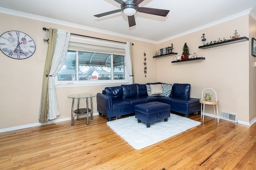
[[[86,31],[74,27],[56,25],[43,21],[31,20],[17,16],[0,14],[0,34],[18,30],[27,33],[36,43],[36,51],[32,57],[24,60],[16,60],[7,57],[0,52],[0,129],[38,123],[40,97],[42,88],[42,76],[46,59],[48,44],[43,42],[46,34],[43,27],[66,29],[71,33],[111,39],[114,41],[130,41],[133,45],[134,80],[137,83],[156,82],[157,67],[152,59],[156,51],[156,44],[117,37],[103,33]],[[144,51],[147,54],[148,74],[144,77]],[[150,55],[151,54],[151,55]],[[67,98],[75,93],[98,93],[104,86],[56,88],[60,115],[57,119],[69,118],[72,100]],[[81,102],[83,104],[83,102]],[[96,98],[93,98],[94,113],[97,113]]]

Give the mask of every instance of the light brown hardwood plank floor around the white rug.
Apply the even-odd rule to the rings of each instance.
[[[190,118],[201,121],[200,115]],[[82,118],[74,125],[65,121],[0,133],[0,169],[256,169],[256,124],[217,123],[205,116],[198,127],[136,150],[106,122],[96,115],[89,125]]]

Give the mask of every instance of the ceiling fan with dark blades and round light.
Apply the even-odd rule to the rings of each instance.
[[[155,8],[145,8],[145,7],[139,7],[139,4],[143,2],[144,0],[126,0],[126,2],[122,0],[114,0],[117,3],[121,4],[121,9],[119,10],[114,10],[114,11],[109,11],[109,12],[104,12],[102,14],[94,15],[98,18],[110,14],[114,14],[117,12],[123,12],[125,15],[128,16],[128,22],[129,22],[129,27],[132,27],[136,25],[135,23],[135,18],[134,14],[136,12],[142,12],[146,14],[152,14],[152,15],[157,15],[157,16],[167,16],[170,10],[160,10],[160,9],[155,9]]]

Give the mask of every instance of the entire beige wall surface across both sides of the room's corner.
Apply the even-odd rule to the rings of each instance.
[[[47,44],[43,42],[46,32],[42,30],[42,27],[66,29],[72,33],[115,41],[130,41],[134,43],[132,47],[132,60],[135,83],[142,84],[156,81],[166,83],[190,83],[192,86],[191,97],[195,98],[201,98],[201,92],[205,87],[214,88],[218,93],[218,100],[220,100],[219,111],[237,113],[239,120],[248,122],[256,117],[256,115],[254,115],[254,106],[250,107],[250,113],[253,111],[254,113],[250,114],[249,118],[248,87],[249,82],[254,84],[255,81],[253,78],[255,77],[254,74],[250,76],[249,81],[249,65],[252,65],[252,61],[249,61],[249,58],[251,59],[252,56],[248,55],[250,41],[205,50],[198,49],[198,46],[202,45],[200,38],[202,33],[206,34],[208,41],[218,39],[218,37],[228,38],[234,33],[235,29],[238,30],[240,35],[248,37],[249,19],[250,25],[254,25],[255,27],[255,21],[251,21],[252,18],[243,16],[156,45],[154,43],[125,37],[0,14],[1,23],[6,23],[1,24],[1,34],[10,30],[22,31],[30,35],[36,43],[36,52],[28,59],[11,59],[3,53],[0,53],[0,69],[2,72],[0,74],[0,129],[38,123],[42,74],[47,51]],[[255,31],[250,32],[254,32],[255,34]],[[250,33],[250,36],[252,36],[251,34],[252,33]],[[254,37],[256,36],[254,35]],[[171,43],[174,44],[174,52],[178,52],[178,54],[181,55],[182,47],[185,42],[188,43],[190,53],[196,52],[198,57],[206,57],[206,60],[171,63],[173,57],[160,59],[152,58],[157,49],[170,46]],[[147,77],[144,77],[144,52],[147,57]],[[68,95],[80,92],[96,94],[103,89],[104,86],[56,88],[58,107],[60,110],[60,115],[57,119],[70,117],[71,99],[67,98]],[[253,92],[255,94],[255,90]],[[252,97],[252,99],[253,98],[254,97]],[[96,109],[96,98],[93,98],[93,102],[94,112],[98,112]],[[211,110],[210,108],[206,108],[206,112],[208,113],[212,113]]]

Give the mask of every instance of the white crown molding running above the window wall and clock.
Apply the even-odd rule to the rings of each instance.
[[[66,22],[66,21],[62,21],[62,20],[56,20],[56,19],[53,19],[53,18],[48,18],[48,17],[38,16],[38,15],[34,15],[34,14],[29,14],[29,13],[26,13],[26,12],[10,10],[8,8],[0,7],[0,13],[13,15],[13,16],[18,16],[18,17],[22,17],[22,18],[28,18],[28,19],[32,19],[32,20],[44,21],[44,22],[48,22],[48,23],[55,23],[55,24],[58,24],[58,25],[65,25],[65,26],[68,26],[68,27],[74,27],[74,28],[78,28],[78,29],[84,29],[84,30],[87,30],[87,31],[104,33],[104,34],[108,34],[108,35],[124,37],[124,38],[128,38],[128,39],[134,39],[134,40],[138,40],[138,41],[144,41],[144,42],[149,42],[149,43],[154,43],[154,44],[157,43],[157,41],[152,41],[152,40],[149,40],[149,39],[143,39],[143,38],[134,37],[134,36],[131,36],[131,35],[116,33],[116,32],[112,32],[112,31],[106,31],[104,29],[88,27],[88,26],[84,26],[84,25],[80,25],[80,24],[76,24],[76,23],[71,23],[71,22]]]

